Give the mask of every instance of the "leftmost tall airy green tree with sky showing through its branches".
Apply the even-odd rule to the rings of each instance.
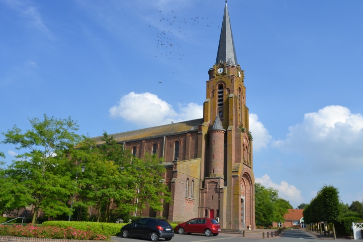
[[[33,201],[35,207],[34,224],[39,209],[46,216],[71,213],[68,201],[77,188],[71,177],[74,165],[69,153],[78,143],[79,135],[75,133],[78,125],[71,118],[62,120],[44,115],[42,121],[33,118],[29,122],[31,128],[25,132],[14,125],[2,133],[5,136],[2,143],[24,150],[4,172],[27,189],[28,201]]]

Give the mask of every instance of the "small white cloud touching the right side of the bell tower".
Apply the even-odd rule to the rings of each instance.
[[[250,131],[253,136],[253,149],[258,151],[261,148],[266,148],[272,139],[269,130],[259,121],[259,117],[256,114],[250,114],[249,121]]]

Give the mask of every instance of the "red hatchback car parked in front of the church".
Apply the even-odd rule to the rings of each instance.
[[[205,236],[217,236],[221,232],[221,227],[215,219],[197,218],[179,224],[175,227],[175,232],[180,235],[197,233]]]

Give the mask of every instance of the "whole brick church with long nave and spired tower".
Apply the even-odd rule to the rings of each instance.
[[[165,204],[163,212],[144,209],[142,216],[163,216],[169,221],[217,217],[222,228],[256,228],[252,136],[243,73],[226,3],[217,59],[208,70],[203,117],[112,134],[138,158],[149,153],[164,159],[173,204]],[[100,137],[94,139],[101,143]]]

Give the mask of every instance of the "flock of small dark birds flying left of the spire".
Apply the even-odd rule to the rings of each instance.
[[[161,12],[162,11],[159,11],[159,13]],[[184,53],[181,44],[178,43],[177,39],[181,41],[185,38],[188,28],[192,25],[204,25],[209,28],[210,26],[213,26],[213,22],[208,20],[208,17],[180,18],[175,16],[174,10],[172,10],[172,14],[174,16],[171,16],[170,18],[161,17],[161,24],[158,24],[159,27],[156,27],[156,39],[158,40],[156,41],[155,46],[157,49],[156,53],[160,53],[162,57],[169,60],[182,60]],[[149,27],[152,26],[149,25]],[[157,55],[155,55],[155,58],[156,57]]]

